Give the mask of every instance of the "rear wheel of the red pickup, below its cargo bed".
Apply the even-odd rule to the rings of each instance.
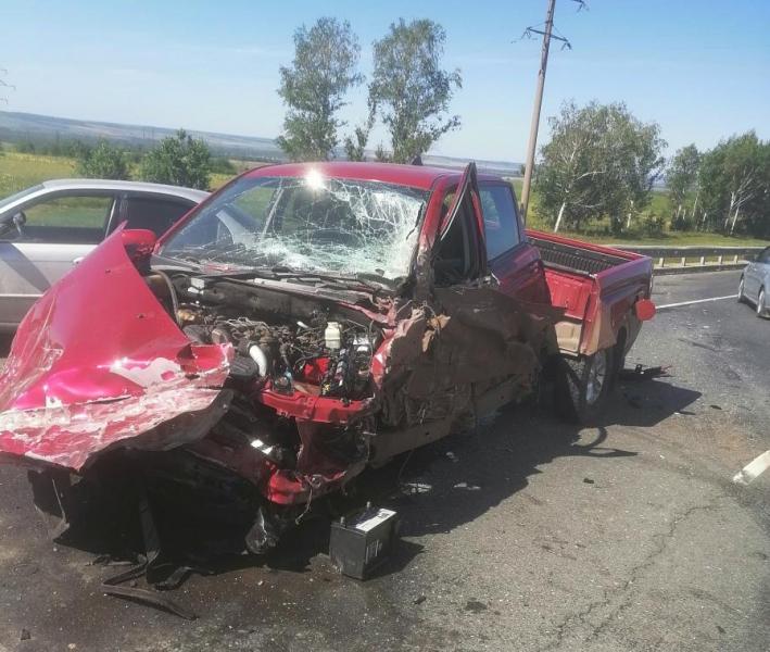
[[[603,349],[578,360],[563,359],[556,379],[556,409],[572,423],[592,425],[607,404],[616,366],[614,349]]]

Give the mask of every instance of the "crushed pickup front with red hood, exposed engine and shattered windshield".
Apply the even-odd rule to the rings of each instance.
[[[553,315],[491,276],[430,287],[428,200],[243,177],[156,255],[118,229],[52,287],[0,376],[0,454],[54,531],[83,486],[127,487],[264,553],[367,464],[530,393]]]

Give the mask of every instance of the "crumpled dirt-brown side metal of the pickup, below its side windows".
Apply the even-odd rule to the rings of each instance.
[[[487,286],[434,294],[436,305],[414,308],[388,342],[380,402],[390,426],[457,416],[468,409],[472,386],[493,378],[512,377],[529,391],[558,314]]]

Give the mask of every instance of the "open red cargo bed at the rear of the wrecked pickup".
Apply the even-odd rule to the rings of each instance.
[[[649,297],[652,260],[629,251],[528,230],[540,252],[551,302],[565,311],[556,325],[559,348],[568,355],[590,355],[614,346],[626,329],[627,347],[639,331],[629,321],[633,304]]]

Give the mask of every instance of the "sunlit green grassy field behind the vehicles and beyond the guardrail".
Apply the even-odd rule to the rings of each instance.
[[[18,192],[29,186],[34,186],[47,179],[72,178],[77,176],[77,165],[74,159],[65,156],[46,156],[40,154],[22,154],[8,151],[0,153],[0,199]],[[238,171],[255,167],[258,163],[233,161]],[[219,188],[232,178],[226,174],[213,174],[211,176],[211,189]],[[521,179],[513,180],[517,197],[521,193]],[[664,191],[653,192],[653,200],[646,212],[654,211],[657,215],[666,216],[669,211],[668,198]],[[640,221],[640,218],[636,218]],[[531,228],[551,230],[551,227],[538,215],[538,193],[534,192],[530,203]],[[709,233],[682,233],[664,231],[659,236],[647,236],[632,228],[621,236],[609,234],[609,224],[602,222],[592,223],[590,229],[582,233],[570,230],[560,231],[568,237],[575,237],[591,242],[627,243],[627,244],[659,244],[662,247],[678,246],[702,246],[702,247],[762,247],[767,244],[765,240],[745,237],[728,237]]]

